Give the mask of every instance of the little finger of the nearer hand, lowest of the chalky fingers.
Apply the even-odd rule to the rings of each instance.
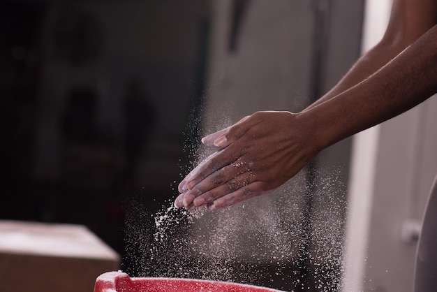
[[[209,210],[218,210],[224,207],[229,207],[231,205],[235,205],[244,200],[249,200],[250,198],[254,198],[256,196],[262,196],[268,194],[273,190],[265,190],[265,182],[252,182],[241,189],[237,189],[226,196],[218,198],[214,200],[214,203],[208,207]]]

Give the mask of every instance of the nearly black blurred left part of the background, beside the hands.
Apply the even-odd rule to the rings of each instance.
[[[207,1],[1,1],[0,22],[0,219],[123,255],[126,201],[174,198],[198,135]]]

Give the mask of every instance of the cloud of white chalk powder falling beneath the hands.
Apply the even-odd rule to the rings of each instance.
[[[211,154],[189,151],[197,163]],[[338,175],[316,175],[309,217],[304,216],[309,192],[304,172],[272,194],[214,212],[188,212],[168,200],[156,214],[147,214],[133,202],[126,217],[126,251],[140,277],[338,291],[346,216],[346,187]]]

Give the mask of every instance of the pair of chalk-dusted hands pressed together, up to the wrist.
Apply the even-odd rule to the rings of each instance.
[[[218,151],[179,184],[175,206],[215,210],[273,191],[318,152],[299,114],[255,112],[202,139]]]

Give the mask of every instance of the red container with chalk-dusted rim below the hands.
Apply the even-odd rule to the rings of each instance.
[[[197,279],[131,278],[124,272],[105,272],[94,292],[278,292],[279,290]]]

